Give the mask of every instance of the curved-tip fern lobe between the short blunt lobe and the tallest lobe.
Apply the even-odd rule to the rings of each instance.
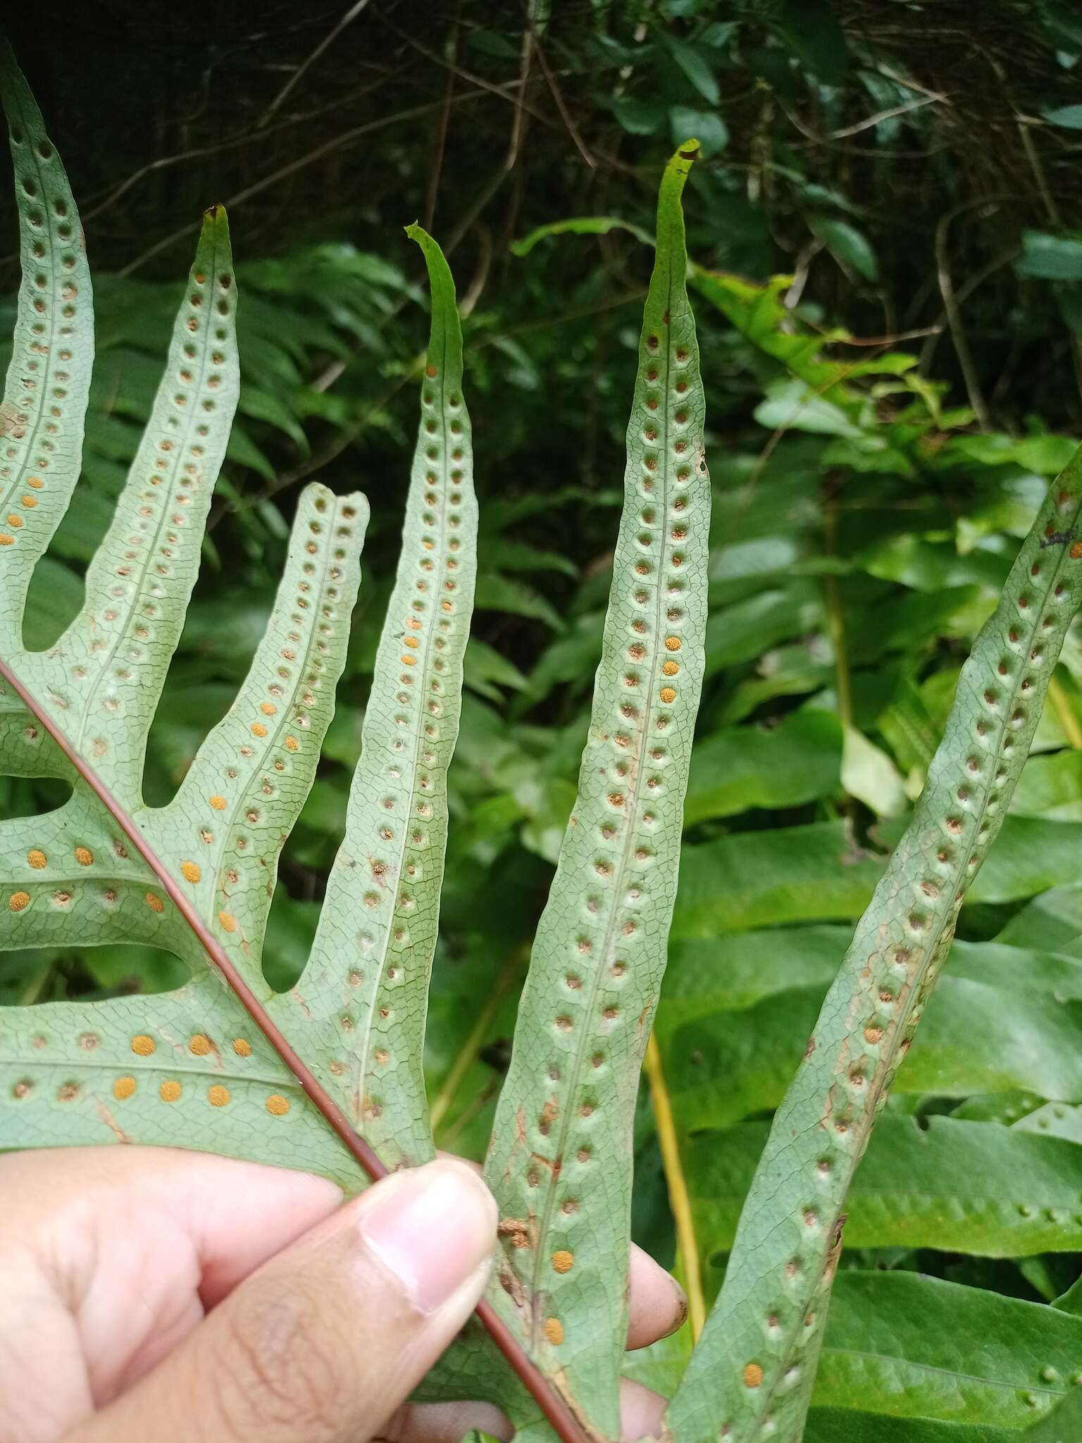
[[[403,551],[377,652],[346,838],[304,974],[273,1012],[384,1160],[433,1153],[421,1066],[476,567],[454,283],[420,227],[431,338]],[[284,1023],[283,1023],[284,1025]]]

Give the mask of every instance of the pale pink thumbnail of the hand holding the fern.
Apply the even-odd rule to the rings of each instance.
[[[374,1189],[361,1232],[414,1307],[434,1313],[492,1257],[496,1203],[462,1163],[426,1163]]]

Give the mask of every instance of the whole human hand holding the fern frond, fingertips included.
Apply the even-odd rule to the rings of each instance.
[[[157,1147],[0,1157],[0,1443],[453,1443],[488,1404],[403,1405],[480,1297],[496,1206],[466,1165],[340,1205],[307,1173]],[[684,1316],[638,1248],[629,1346]],[[664,1401],[625,1381],[625,1434]]]

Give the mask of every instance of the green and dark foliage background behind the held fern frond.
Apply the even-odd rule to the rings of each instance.
[[[658,1040],[713,1296],[961,662],[1082,429],[1082,23],[1066,0],[977,17],[965,0],[662,0],[537,4],[528,23],[518,4],[434,6],[420,29],[384,0],[319,51],[343,9],[261,6],[257,36],[245,7],[222,7],[212,40],[156,4],[65,6],[55,26],[46,4],[13,26],[87,225],[98,354],[84,482],[32,583],[26,639],[48,645],[81,606],[199,214],[222,201],[238,424],[144,792],[173,797],[242,683],[303,482],[364,491],[338,713],[264,949],[268,981],[289,987],[342,837],[397,566],[428,326],[401,227],[439,235],[463,309],[480,530],[426,1071],[437,1141],[480,1156],[576,795],[643,235],[672,143],[698,134],[685,212],[710,616]],[[512,245],[584,216],[622,224]],[[809,1439],[1003,1443],[1046,1414],[1053,1429],[1050,1404],[1082,1377],[1081,688],[1072,629],[857,1173]],[[0,815],[63,797],[0,778]],[[146,947],[39,948],[0,957],[0,999],[185,975]],[[645,1092],[635,1160],[633,1232],[672,1264]],[[671,1388],[685,1333],[635,1375]]]

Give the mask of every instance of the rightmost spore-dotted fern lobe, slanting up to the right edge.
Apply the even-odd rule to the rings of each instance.
[[[1007,812],[1082,603],[1082,450],[1053,482],[962,667],[913,820],[776,1113],[721,1294],[668,1413],[681,1443],[798,1443],[843,1229],[876,1113]]]

